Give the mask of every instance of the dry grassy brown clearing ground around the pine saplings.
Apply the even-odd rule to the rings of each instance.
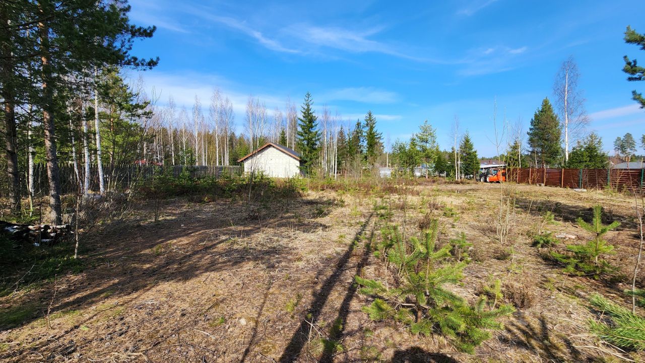
[[[84,242],[93,247],[84,256],[88,267],[82,273],[0,298],[0,311],[33,309],[22,324],[0,332],[0,360],[642,360],[602,344],[587,329],[593,317],[588,296],[598,291],[627,306],[621,291],[628,288],[628,277],[564,275],[530,245],[547,210],[557,222],[546,230],[566,231],[579,237],[573,242],[584,242],[590,236],[575,219],[602,204],[609,219],[622,223],[608,233],[617,250],[610,261],[629,276],[638,247],[633,200],[606,191],[511,186],[517,208],[511,245],[502,246],[495,237],[499,188],[478,183],[431,184],[405,192],[310,191],[293,201],[251,205],[170,199],[157,223],[150,206],[143,205],[128,222],[106,226]],[[392,217],[375,204],[388,205]],[[417,220],[425,213],[441,222],[440,243],[464,232],[473,244],[473,262],[463,283],[453,286],[459,295],[475,300],[493,278],[533,291],[530,306],[504,319],[506,329],[494,332],[475,355],[455,352],[438,336],[419,337],[392,322],[372,322],[361,311],[370,301],[357,293],[353,277],[382,273],[370,241],[379,238],[387,219],[404,224],[406,233],[418,233]],[[339,344],[330,347],[330,341]]]

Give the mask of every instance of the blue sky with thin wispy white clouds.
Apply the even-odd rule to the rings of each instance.
[[[408,139],[425,119],[450,148],[455,116],[480,155],[494,155],[493,102],[524,131],[570,55],[581,73],[589,130],[611,149],[615,137],[645,133],[645,110],[626,81],[627,25],[645,32],[645,1],[168,1],[131,0],[137,25],[156,25],[135,55],[161,58],[146,88],[190,109],[214,87],[243,122],[249,95],[268,110],[311,92],[343,119],[368,110],[390,141]]]

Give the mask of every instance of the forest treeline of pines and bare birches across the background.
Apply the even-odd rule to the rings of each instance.
[[[19,212],[23,197],[34,195],[37,164],[46,166],[50,217],[59,224],[61,166],[73,167],[79,193],[90,191],[92,173],[104,193],[104,168],[228,166],[264,142],[300,152],[303,172],[321,177],[396,166],[426,167],[459,179],[479,168],[470,134],[459,130],[456,117],[452,148],[441,150],[437,129],[428,121],[409,140],[390,145],[372,111],[355,121],[326,106],[316,112],[310,93],[300,105],[286,99],[284,108],[273,110],[248,97],[243,115],[235,115],[231,99],[217,88],[208,100],[195,96],[188,110],[172,95],[161,100],[146,92],[142,76],[130,82],[124,77],[126,70],[159,62],[130,53],[136,40],[154,35],[155,27],[133,25],[129,11],[126,0],[0,3],[3,184],[12,211]],[[642,44],[637,35],[628,28],[626,41]],[[642,79],[642,68],[625,61],[630,80]],[[504,116],[499,135],[495,131],[497,157],[510,166],[606,167],[599,135],[584,132],[588,117],[578,79],[577,65],[568,59],[556,77],[555,103],[542,101],[528,132]],[[639,101],[640,95],[633,97]],[[627,160],[635,153],[630,133],[614,146]]]

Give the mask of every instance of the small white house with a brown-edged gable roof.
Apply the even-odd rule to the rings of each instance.
[[[264,173],[268,177],[291,178],[300,175],[300,153],[286,146],[267,142],[261,148],[239,159],[245,173]]]

